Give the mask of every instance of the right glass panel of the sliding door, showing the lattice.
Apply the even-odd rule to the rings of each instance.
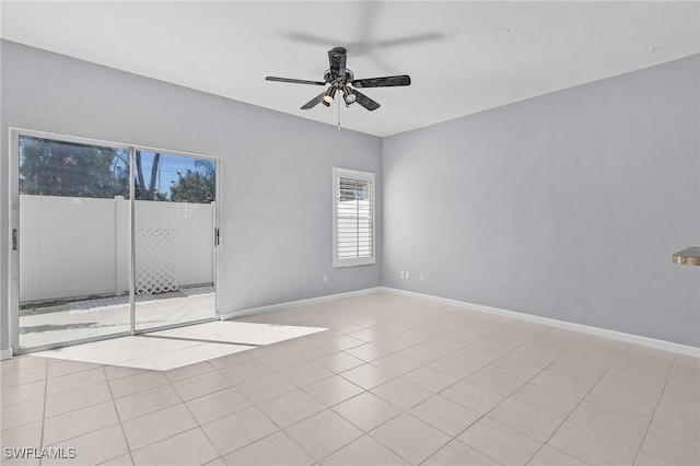
[[[136,330],[210,319],[217,163],[139,150],[135,158],[143,174],[135,202]]]

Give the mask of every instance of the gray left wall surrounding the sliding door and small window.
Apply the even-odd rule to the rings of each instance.
[[[9,345],[9,127],[221,158],[223,312],[382,284],[381,258],[334,270],[331,254],[332,166],[377,174],[381,251],[380,138],[10,42],[1,47],[0,348]]]

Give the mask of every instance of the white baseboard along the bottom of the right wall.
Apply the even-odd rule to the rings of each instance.
[[[402,294],[406,296],[420,298],[427,301],[447,304],[455,307],[464,307],[486,314],[500,315],[504,317],[516,318],[518,321],[532,322],[535,324],[548,325],[550,327],[563,328],[567,330],[579,331],[581,334],[594,335],[597,337],[609,338],[611,340],[625,341],[627,343],[641,345],[644,347],[655,348],[664,351],[676,352],[678,354],[700,358],[700,348],[674,343],[672,341],[657,340],[639,335],[626,334],[617,330],[608,330],[606,328],[591,327],[583,324],[574,324],[565,321],[557,321],[556,318],[540,317],[532,314],[524,314],[515,311],[506,311],[499,307],[485,306],[481,304],[472,304],[464,301],[450,300],[446,298],[433,296],[430,294],[416,293],[413,291],[405,291],[396,288],[382,287],[382,291],[387,293]]]

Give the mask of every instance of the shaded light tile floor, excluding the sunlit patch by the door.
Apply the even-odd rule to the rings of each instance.
[[[42,465],[700,464],[696,358],[387,293],[237,322],[328,330],[168,371],[3,361],[2,446],[75,448]]]

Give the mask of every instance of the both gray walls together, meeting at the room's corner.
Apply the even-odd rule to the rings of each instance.
[[[222,158],[224,312],[385,284],[700,346],[698,56],[382,142],[0,45],[2,245],[9,127],[135,142]],[[334,165],[377,173],[383,263],[332,269]]]

